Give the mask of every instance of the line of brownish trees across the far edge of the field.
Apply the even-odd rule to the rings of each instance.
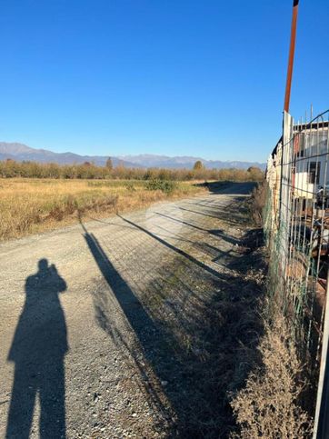
[[[194,165],[193,169],[128,168],[124,165],[97,166],[89,162],[82,165],[40,164],[36,162],[0,161],[2,178],[57,178],[57,179],[124,179],[124,180],[219,180],[219,181],[260,181],[264,173],[258,167],[249,169],[205,169]]]

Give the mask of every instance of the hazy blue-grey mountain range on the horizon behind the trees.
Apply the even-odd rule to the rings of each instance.
[[[95,165],[104,166],[107,156],[102,155],[77,155],[74,153],[53,153],[46,149],[35,149],[30,146],[15,143],[0,142],[0,160],[11,158],[23,162],[32,161],[38,163],[57,163],[59,165],[83,164],[94,162]],[[257,166],[265,169],[264,163],[256,162],[222,162],[219,160],[204,160],[201,157],[167,155],[122,155],[112,156],[115,166],[122,164],[126,167],[165,167],[169,169],[192,168],[196,160],[201,160],[206,168],[240,168],[247,169],[249,166]]]

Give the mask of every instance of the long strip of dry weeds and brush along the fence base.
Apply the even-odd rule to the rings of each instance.
[[[254,351],[244,345],[244,364],[252,364],[242,387],[231,394],[236,427],[231,438],[265,437],[266,439],[310,437],[312,416],[301,404],[304,393],[303,363],[301,361],[291,326],[284,318],[280,301],[274,299],[271,286],[275,282],[270,267],[266,269],[264,249],[264,207],[268,186],[262,182],[253,190],[247,205],[257,228],[246,236],[246,257],[253,267],[251,276],[262,289],[254,304],[250,322],[258,319]],[[271,265],[271,262],[270,262]],[[264,294],[270,286],[270,294]],[[256,297],[257,290],[254,290]],[[249,306],[249,304],[248,304]],[[252,308],[249,308],[249,313]],[[245,330],[249,326],[244,322]]]

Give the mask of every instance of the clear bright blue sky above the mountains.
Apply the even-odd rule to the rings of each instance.
[[[1,0],[0,141],[264,161],[292,0]],[[329,107],[329,1],[300,0],[291,113]]]

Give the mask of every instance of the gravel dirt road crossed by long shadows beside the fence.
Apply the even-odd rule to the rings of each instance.
[[[250,189],[2,244],[0,436],[225,437]]]

